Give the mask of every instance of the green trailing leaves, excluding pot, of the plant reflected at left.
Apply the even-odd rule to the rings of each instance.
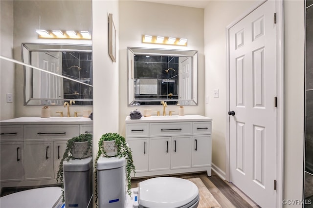
[[[74,158],[73,155],[73,149],[74,149],[74,142],[88,142],[88,148],[84,152],[83,156],[81,158]],[[71,139],[67,140],[67,148],[65,149],[65,152],[63,154],[63,157],[59,164],[59,170],[57,172],[57,183],[61,183],[62,188],[62,196],[63,196],[63,202],[64,202],[64,175],[63,175],[63,162],[69,161],[70,159],[75,160],[81,160],[84,158],[85,155],[89,153],[89,151],[92,151],[92,134],[80,134],[77,137],[72,137]]]

